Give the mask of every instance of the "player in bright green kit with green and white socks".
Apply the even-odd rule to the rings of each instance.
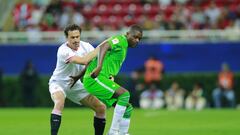
[[[116,76],[127,55],[128,47],[136,47],[143,36],[142,28],[130,26],[126,35],[112,36],[99,47],[98,57],[92,60],[85,72],[83,84],[86,90],[100,99],[107,107],[115,106],[108,135],[127,135],[133,110],[129,104],[128,90],[115,83]]]

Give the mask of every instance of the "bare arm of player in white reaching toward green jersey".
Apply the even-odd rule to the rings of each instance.
[[[86,65],[88,64],[93,58],[95,58],[99,52],[99,46],[96,47],[93,51],[91,51],[90,53],[88,53],[87,55],[83,56],[83,57],[79,57],[79,56],[73,56],[71,57],[68,62],[69,63],[75,63],[75,64],[82,64],[82,65]]]

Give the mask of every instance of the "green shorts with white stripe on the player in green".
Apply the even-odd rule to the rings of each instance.
[[[98,76],[93,79],[85,77],[83,79],[85,89],[92,95],[101,100],[107,107],[111,107],[117,99],[112,98],[114,92],[120,88],[120,85],[104,76]]]

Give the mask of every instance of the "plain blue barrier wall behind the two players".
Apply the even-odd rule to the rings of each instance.
[[[51,74],[55,68],[56,45],[0,45],[0,68],[4,74],[18,74],[27,60],[32,60],[40,73]],[[129,49],[122,72],[143,66],[156,56],[172,72],[218,72],[222,62],[240,71],[240,42],[221,43],[144,43]]]

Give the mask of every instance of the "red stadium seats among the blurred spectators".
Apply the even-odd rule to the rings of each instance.
[[[60,18],[65,8],[71,8],[84,17],[84,23],[80,24],[83,29],[87,27],[86,25],[91,25],[91,29],[119,30],[133,23],[139,23],[143,25],[143,28],[148,29],[148,26],[146,26],[147,21],[152,21],[151,29],[166,30],[174,30],[176,26],[170,28],[163,26],[160,28],[159,24],[162,24],[162,21],[171,25],[181,23],[183,26],[181,29],[226,29],[235,26],[240,27],[240,0],[186,0],[185,3],[181,4],[177,1],[171,0],[169,5],[164,6],[157,0],[96,0],[93,3],[81,3],[74,0],[50,0],[49,5],[40,8],[36,8],[39,5],[28,3],[26,11],[23,11],[26,17],[23,18],[23,21],[21,20],[24,24],[18,23],[19,12],[16,11],[20,11],[20,6],[23,4],[18,3],[13,10],[13,17],[15,18],[16,28],[23,27],[23,30],[27,30],[32,25],[31,21],[29,21],[32,17],[32,11],[41,9],[44,12],[42,19],[39,21],[39,27],[42,31],[49,31],[52,28],[60,30]],[[212,7],[212,5],[216,6]],[[211,16],[207,15],[207,10],[217,10],[216,12],[219,12],[213,24],[208,22],[209,18],[211,20]],[[220,14],[223,12],[225,12],[225,16],[221,17]],[[73,13],[68,13],[69,16],[71,14]],[[196,14],[198,15],[197,17],[202,17],[200,18],[203,20],[202,23],[195,22],[193,18]],[[46,18],[48,20],[44,20]],[[159,18],[161,19],[159,20]],[[44,22],[47,23],[49,28],[42,28],[41,24]],[[20,29],[22,30],[22,28]]]

